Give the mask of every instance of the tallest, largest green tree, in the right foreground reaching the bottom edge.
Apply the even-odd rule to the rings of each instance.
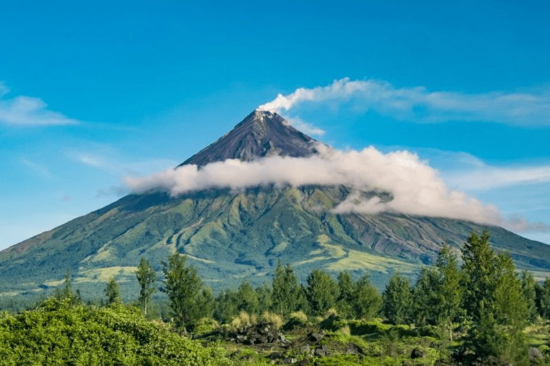
[[[503,363],[522,364],[527,345],[527,299],[507,253],[489,247],[489,232],[473,232],[463,248],[465,307],[474,321],[468,340],[478,356],[498,357]]]

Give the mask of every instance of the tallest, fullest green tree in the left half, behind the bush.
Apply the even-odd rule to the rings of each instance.
[[[186,256],[179,253],[168,255],[168,262],[162,262],[164,272],[163,291],[168,295],[170,309],[175,315],[175,325],[184,332],[197,319],[197,296],[202,289],[202,280],[197,268],[186,266]]]

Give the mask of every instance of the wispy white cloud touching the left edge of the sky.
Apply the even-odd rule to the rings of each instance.
[[[63,113],[50,111],[40,98],[18,95],[5,98],[10,89],[0,82],[0,124],[12,126],[50,126],[78,124],[78,120]]]

